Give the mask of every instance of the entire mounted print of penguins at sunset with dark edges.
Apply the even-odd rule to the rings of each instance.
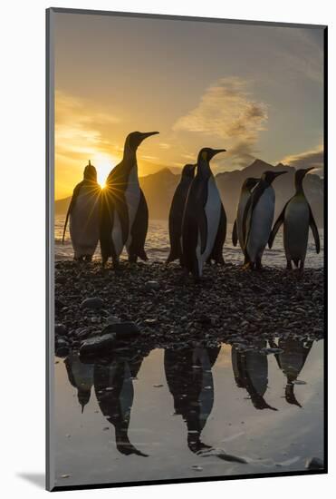
[[[49,490],[327,472],[326,35],[47,11]]]

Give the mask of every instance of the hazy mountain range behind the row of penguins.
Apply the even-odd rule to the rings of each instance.
[[[260,177],[266,170],[287,171],[285,175],[275,179],[275,217],[283,209],[284,204],[293,196],[295,169],[282,163],[273,166],[262,160],[255,160],[244,170],[225,171],[216,175],[216,182],[226,209],[227,220],[234,222],[236,204],[243,181],[247,177]],[[151,219],[168,219],[170,203],[179,182],[179,174],[174,174],[170,168],[164,168],[156,173],[139,177],[142,191],[149,205]],[[316,223],[323,226],[323,181],[318,175],[310,173],[303,181],[303,188],[312,206]],[[65,214],[71,198],[55,201],[55,214]]]

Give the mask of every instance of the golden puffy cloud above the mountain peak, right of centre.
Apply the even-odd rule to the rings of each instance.
[[[243,167],[255,157],[260,132],[266,130],[267,104],[256,102],[240,78],[222,78],[206,89],[197,107],[178,118],[174,132],[197,132],[218,138],[226,158]]]

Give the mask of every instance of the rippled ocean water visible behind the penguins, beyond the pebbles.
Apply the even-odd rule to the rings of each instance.
[[[66,233],[64,244],[62,245],[62,231],[64,227],[64,216],[55,217],[55,259],[72,259],[73,250],[72,242],[70,240],[69,229]],[[241,249],[234,247],[232,244],[232,229],[233,225],[228,224],[226,234],[226,244],[224,247],[224,258],[227,263],[241,264],[243,255]],[[323,230],[319,230],[321,240],[321,251],[317,255],[315,252],[314,241],[312,232],[310,230],[308,251],[305,261],[306,268],[317,269],[323,266]],[[169,234],[168,234],[168,220],[149,220],[149,232],[146,240],[146,251],[150,261],[165,261],[169,253]],[[123,253],[126,258],[126,253]],[[100,259],[99,244],[96,249],[94,259]],[[121,256],[122,258],[122,256]],[[286,265],[286,259],[283,250],[283,230],[279,230],[275,240],[273,249],[265,249],[263,263],[266,266],[283,268]]]

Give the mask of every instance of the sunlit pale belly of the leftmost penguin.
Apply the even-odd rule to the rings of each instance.
[[[99,190],[82,186],[70,214],[74,258],[92,256],[100,236]]]

